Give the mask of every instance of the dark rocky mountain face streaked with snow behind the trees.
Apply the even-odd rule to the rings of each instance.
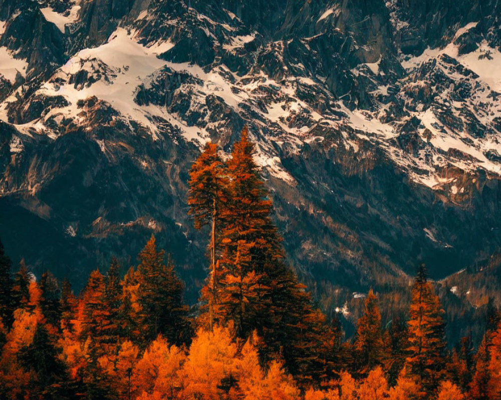
[[[501,244],[500,15],[496,0],[0,0],[0,236],[78,287],[153,232],[194,301],[206,232],[187,173],[248,124],[326,308],[419,262],[437,279],[474,265]]]

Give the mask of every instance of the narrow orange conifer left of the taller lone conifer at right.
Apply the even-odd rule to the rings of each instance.
[[[385,355],[381,313],[372,289],[365,300],[364,315],[358,320],[355,351],[357,369],[361,375],[366,375],[376,366],[383,364]]]

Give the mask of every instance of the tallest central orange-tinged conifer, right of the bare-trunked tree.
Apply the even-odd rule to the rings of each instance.
[[[231,200],[221,209],[220,248],[214,320],[236,321],[235,336],[253,330],[263,338],[264,360],[279,353],[302,381],[324,373],[324,316],[311,295],[285,262],[282,237],[272,221],[272,200],[254,161],[254,144],[247,127],[234,143],[227,162],[227,192]],[[205,288],[205,291],[207,288]]]

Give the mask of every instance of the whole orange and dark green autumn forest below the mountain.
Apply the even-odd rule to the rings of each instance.
[[[445,339],[420,265],[406,318],[384,324],[365,299],[354,338],[328,320],[287,262],[246,128],[223,159],[208,143],[188,203],[207,232],[208,276],[188,307],[155,237],[121,274],[115,258],[81,293],[50,272],[12,271],[0,245],[0,399],[498,400],[501,323]]]

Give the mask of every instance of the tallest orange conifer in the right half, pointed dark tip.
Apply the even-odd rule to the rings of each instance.
[[[427,281],[424,265],[421,265],[412,288],[406,365],[410,375],[428,393],[437,388],[444,374],[446,344],[443,314],[440,300]]]

